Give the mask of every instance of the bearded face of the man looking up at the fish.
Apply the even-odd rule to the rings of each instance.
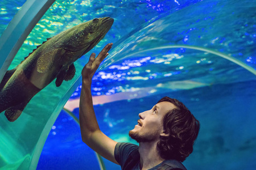
[[[174,108],[174,104],[163,101],[154,105],[151,110],[139,113],[138,125],[129,131],[130,137],[137,142],[158,141],[160,134],[164,131],[163,117]]]

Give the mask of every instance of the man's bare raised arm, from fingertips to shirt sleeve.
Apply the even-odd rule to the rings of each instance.
[[[107,137],[100,130],[93,109],[91,93],[92,77],[100,63],[108,56],[108,51],[112,48],[112,45],[112,43],[106,45],[96,58],[96,54],[92,53],[89,62],[84,66],[84,69],[82,69],[79,117],[82,141],[104,158],[118,164],[114,157],[114,149],[117,142]]]

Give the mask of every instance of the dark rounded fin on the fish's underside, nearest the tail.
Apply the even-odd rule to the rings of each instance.
[[[28,101],[15,105],[5,111],[5,116],[10,122],[14,122],[26,107]]]

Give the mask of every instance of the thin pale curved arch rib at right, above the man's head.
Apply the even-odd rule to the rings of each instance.
[[[168,48],[188,48],[188,49],[195,49],[195,50],[200,50],[200,51],[203,51],[203,52],[215,54],[216,56],[228,59],[229,61],[232,61],[232,62],[236,63],[237,65],[240,65],[244,69],[246,69],[246,70],[250,71],[251,73],[253,73],[254,75],[256,75],[256,70],[253,67],[250,67],[250,66],[246,65],[245,63],[241,62],[240,60],[238,60],[234,57],[228,56],[228,55],[226,55],[224,53],[221,53],[221,52],[218,52],[216,50],[212,50],[212,49],[205,48],[205,47],[203,48],[201,46],[195,46],[195,45],[166,45],[166,46],[160,46],[160,47],[157,47],[157,48],[149,48],[149,49],[146,49],[146,50],[142,50],[140,52],[135,52],[135,53],[127,55],[126,57],[131,57],[131,56],[134,56],[136,54],[148,52],[148,51],[151,51],[151,50],[168,49]]]

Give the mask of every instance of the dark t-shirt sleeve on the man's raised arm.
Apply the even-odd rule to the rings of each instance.
[[[134,145],[132,143],[119,142],[117,143],[117,145],[115,145],[115,160],[117,160],[119,165],[123,167],[123,164],[125,164],[129,155],[135,150],[138,150],[138,145]]]

